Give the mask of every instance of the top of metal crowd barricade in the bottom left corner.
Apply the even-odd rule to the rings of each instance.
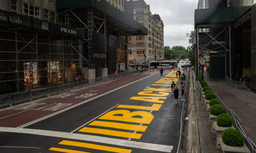
[[[42,153],[37,147],[0,146],[1,153]]]

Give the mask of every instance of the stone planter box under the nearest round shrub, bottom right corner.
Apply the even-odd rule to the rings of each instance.
[[[222,149],[223,153],[230,153],[230,152],[234,152],[234,153],[250,153],[250,150],[245,145],[245,143],[244,143],[244,146],[242,146],[242,147],[239,147],[239,146],[228,146],[228,145],[223,143],[222,138],[219,138],[219,143],[221,144],[221,149]]]

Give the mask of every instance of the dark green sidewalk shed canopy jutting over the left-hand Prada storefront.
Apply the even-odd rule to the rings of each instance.
[[[93,7],[106,13],[106,24],[131,35],[148,35],[148,29],[105,0],[57,0],[57,9]]]

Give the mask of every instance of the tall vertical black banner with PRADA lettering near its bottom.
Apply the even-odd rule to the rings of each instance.
[[[107,63],[107,42],[106,35],[93,32],[93,63],[94,64],[105,64]]]

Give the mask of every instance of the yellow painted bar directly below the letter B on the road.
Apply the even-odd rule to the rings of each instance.
[[[124,124],[124,123],[116,123],[116,122],[105,122],[105,121],[93,121],[89,125],[112,127],[112,128],[116,128],[116,129],[133,130],[133,131],[141,131],[141,132],[144,132],[147,129],[147,126],[142,126],[142,125]]]

